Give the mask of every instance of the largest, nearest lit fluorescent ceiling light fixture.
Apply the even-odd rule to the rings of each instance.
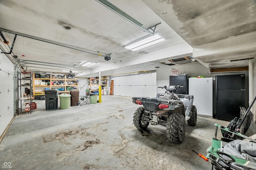
[[[164,37],[162,37],[162,35],[157,33],[154,36],[142,37],[141,39],[138,39],[136,42],[134,42],[132,44],[128,44],[124,48],[126,48],[128,50],[131,50],[131,51],[137,51],[137,50],[142,49],[144,47],[148,47],[150,45],[160,43],[161,41],[164,41],[164,40],[166,40],[166,39]]]

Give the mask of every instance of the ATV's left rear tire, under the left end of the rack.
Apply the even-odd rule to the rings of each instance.
[[[133,124],[139,130],[144,130],[149,125],[149,122],[144,120],[144,110],[144,107],[138,107],[133,114]]]

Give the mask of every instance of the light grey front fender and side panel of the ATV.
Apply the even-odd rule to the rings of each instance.
[[[186,109],[185,111],[185,120],[189,120],[190,116],[192,114],[191,109],[193,106],[193,100],[194,96],[193,95],[188,95],[188,94],[178,94],[180,101],[184,103],[184,107]]]

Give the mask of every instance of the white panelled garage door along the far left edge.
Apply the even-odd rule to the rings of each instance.
[[[14,64],[5,55],[0,55],[0,135],[2,135],[14,116]]]

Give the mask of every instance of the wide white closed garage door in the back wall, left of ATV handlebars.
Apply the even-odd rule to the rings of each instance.
[[[156,97],[156,72],[112,77],[114,95]]]

